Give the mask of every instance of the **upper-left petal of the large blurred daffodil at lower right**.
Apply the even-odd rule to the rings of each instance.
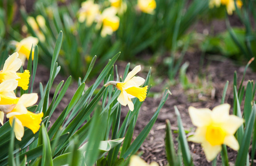
[[[188,113],[194,126],[207,126],[212,122],[211,111],[208,108],[195,108],[190,106]]]

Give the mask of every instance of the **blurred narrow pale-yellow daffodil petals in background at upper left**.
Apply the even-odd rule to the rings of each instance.
[[[45,29],[45,27],[46,27],[46,20],[44,19],[44,17],[42,15],[37,15],[36,19],[34,19],[34,17],[29,16],[27,18],[27,23],[34,30],[34,32],[36,33],[37,37],[42,42],[44,42],[46,40],[46,38],[44,37],[44,34],[41,32],[41,29],[38,27],[38,25],[39,25],[42,29]],[[23,30],[23,32],[27,33],[27,27],[26,26],[22,27],[22,30]]]

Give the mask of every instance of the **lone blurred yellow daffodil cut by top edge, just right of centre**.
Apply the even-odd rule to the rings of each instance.
[[[138,8],[140,11],[148,14],[154,14],[154,9],[157,7],[155,0],[138,0]]]

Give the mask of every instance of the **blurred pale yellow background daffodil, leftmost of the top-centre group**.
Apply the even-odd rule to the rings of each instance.
[[[100,14],[99,5],[94,3],[93,0],[88,0],[83,2],[81,6],[82,7],[78,11],[78,21],[81,23],[86,21],[86,25],[89,27]]]

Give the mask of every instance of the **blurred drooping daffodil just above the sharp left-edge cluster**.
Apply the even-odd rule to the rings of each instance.
[[[27,37],[21,40],[21,42],[14,42],[16,45],[16,50],[19,54],[19,59],[22,60],[22,65],[24,65],[26,58],[29,58],[31,47],[36,46],[38,39],[34,37]],[[34,49],[32,49],[32,60],[34,59]]]

